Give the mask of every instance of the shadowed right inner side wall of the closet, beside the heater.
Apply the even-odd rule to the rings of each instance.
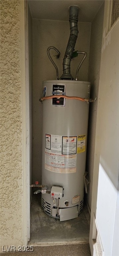
[[[98,89],[99,89],[103,16],[104,16],[104,4],[99,9],[98,13],[96,14],[91,24],[88,81],[91,82],[90,98],[94,98],[94,99],[95,97],[98,97]],[[88,119],[86,171],[88,172],[88,178],[90,183],[88,187],[88,194],[86,194],[86,199],[90,209],[91,209],[91,200],[92,200],[97,102],[98,101],[96,100],[94,103],[90,103],[89,119]]]

